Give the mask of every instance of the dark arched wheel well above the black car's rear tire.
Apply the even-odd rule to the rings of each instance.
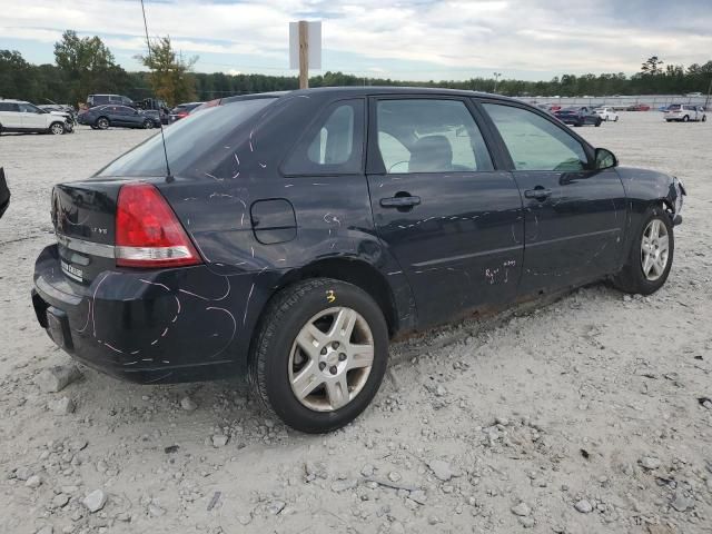
[[[380,307],[388,325],[388,334],[393,335],[398,329],[398,314],[390,286],[385,277],[369,264],[357,259],[322,259],[289,271],[279,281],[278,290],[309,278],[334,278],[362,288]]]

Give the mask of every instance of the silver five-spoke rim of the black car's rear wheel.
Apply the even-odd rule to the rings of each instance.
[[[364,388],[374,362],[374,337],[364,317],[348,307],[313,316],[289,354],[295,397],[315,412],[334,412]]]

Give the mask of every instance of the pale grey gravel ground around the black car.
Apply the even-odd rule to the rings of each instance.
[[[152,132],[2,136],[0,532],[712,532],[712,127],[578,131],[688,186],[665,287],[594,285],[398,344],[373,406],[318,437],[265,419],[239,380],[81,368],[46,393],[72,365],[29,299],[51,185]]]

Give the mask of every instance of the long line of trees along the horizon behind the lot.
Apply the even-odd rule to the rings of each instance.
[[[159,98],[174,106],[184,101],[211,100],[231,95],[297,89],[296,76],[226,75],[194,72],[197,57],[184,59],[170,37],[154,39],[149,53],[137,59],[149,71],[127,72],[116,63],[109,48],[98,37],[80,38],[67,30],[55,43],[55,63],[31,65],[13,50],[0,50],[0,97],[36,103],[55,101],[77,106],[91,93],[118,93],[134,100]],[[548,81],[502,79],[497,92],[507,96],[613,96],[706,93],[712,80],[712,60],[699,65],[665,65],[653,56],[640,72],[563,75]],[[407,81],[364,78],[344,72],[326,72],[309,78],[310,87],[417,86],[492,91],[494,78],[467,80]]]

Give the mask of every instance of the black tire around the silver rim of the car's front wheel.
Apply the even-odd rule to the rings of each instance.
[[[664,268],[654,273],[654,269],[650,270],[650,275],[654,275],[654,279],[651,276],[646,276],[644,273],[644,255],[643,239],[647,238],[649,229],[654,221],[659,221],[664,228],[668,236],[668,254],[665,258]],[[660,228],[660,227],[659,227]],[[661,230],[662,231],[662,230]],[[662,245],[659,241],[659,245]],[[675,237],[673,233],[672,220],[668,212],[661,207],[656,206],[650,208],[643,217],[643,222],[635,234],[635,238],[629,250],[627,260],[623,269],[613,278],[613,285],[624,293],[651,295],[660,289],[668,280],[670,269],[675,251]]]

